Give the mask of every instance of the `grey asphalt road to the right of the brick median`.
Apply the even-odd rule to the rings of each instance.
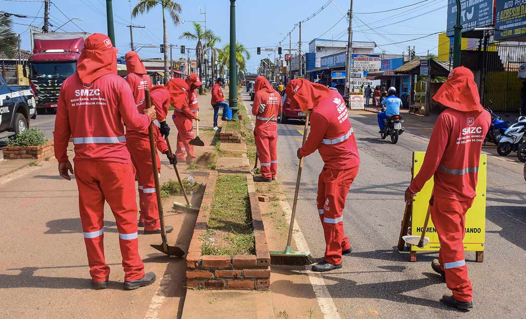
[[[243,98],[250,104],[245,93]],[[391,145],[379,137],[376,114],[350,111],[349,118],[361,157],[360,172],[343,212],[353,252],[344,256],[342,269],[323,274],[340,317],[524,317],[526,304],[517,302],[526,293],[526,183],[522,163],[516,157],[499,157],[494,146],[484,147],[489,154],[485,260],[477,263],[474,252],[466,253],[474,309],[462,314],[438,301],[449,293],[430,267],[438,253],[419,253],[417,262],[411,263],[409,253],[396,250],[412,152],[426,150],[432,121],[408,116],[404,124],[407,131],[397,145]],[[291,199],[301,131],[300,122],[278,126],[278,179]],[[325,250],[316,208],[322,167],[318,152],[305,159],[296,217],[314,258],[322,258]]]

